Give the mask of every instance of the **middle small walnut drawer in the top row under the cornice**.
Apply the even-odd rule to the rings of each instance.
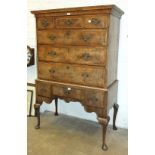
[[[56,28],[82,28],[83,20],[81,17],[58,17],[56,19]]]

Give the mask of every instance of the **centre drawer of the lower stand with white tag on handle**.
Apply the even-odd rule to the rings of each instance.
[[[72,99],[84,99],[84,93],[80,89],[67,86],[52,86],[53,95],[67,97]]]

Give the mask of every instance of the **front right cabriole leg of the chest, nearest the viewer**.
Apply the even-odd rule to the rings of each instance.
[[[110,117],[107,116],[107,118],[98,118],[99,123],[102,125],[102,133],[103,133],[103,143],[102,143],[102,149],[104,151],[108,150],[108,146],[106,144],[106,132],[107,132],[107,127],[108,127],[108,123],[110,121]]]

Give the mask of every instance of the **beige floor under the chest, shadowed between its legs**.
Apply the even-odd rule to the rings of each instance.
[[[28,117],[28,155],[127,155],[128,131],[108,127],[109,150],[101,149],[98,123],[51,112],[41,115],[41,128],[34,129],[35,117]]]

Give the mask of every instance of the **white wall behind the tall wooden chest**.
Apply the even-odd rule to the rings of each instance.
[[[116,4],[120,7],[125,14],[121,18],[120,28],[120,45],[119,45],[119,59],[118,59],[118,104],[120,105],[117,126],[128,128],[128,98],[127,98],[127,17],[128,8],[127,0],[28,0],[28,25],[27,25],[27,44],[36,49],[36,34],[35,34],[35,18],[30,13],[31,10],[44,10],[52,8],[64,8],[64,7],[79,7],[79,6],[93,6],[93,5],[104,5],[104,4]],[[28,82],[34,83],[36,79],[36,66],[29,67],[27,69],[27,80]],[[42,106],[44,109],[54,111],[54,104]],[[59,112],[67,115],[80,117],[83,119],[96,120],[95,113],[86,113],[81,106],[77,103],[64,103],[59,101]],[[112,118],[112,110],[110,111],[110,117]],[[110,124],[112,123],[112,119]]]

